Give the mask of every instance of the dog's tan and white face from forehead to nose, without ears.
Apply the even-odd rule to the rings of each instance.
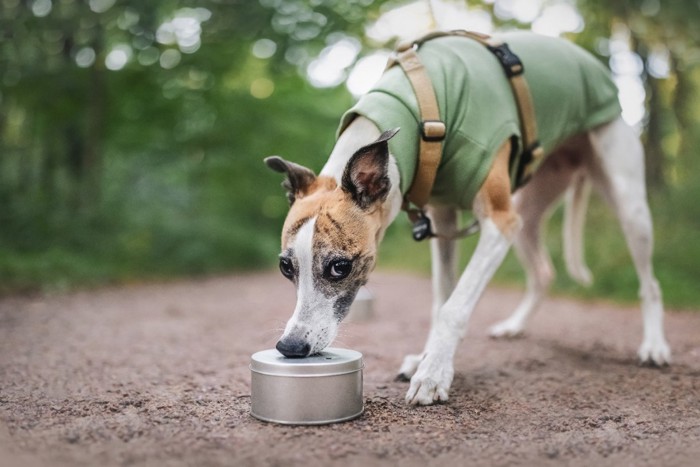
[[[326,180],[297,199],[282,234],[280,269],[297,288],[297,303],[278,349],[306,356],[327,347],[374,267],[379,213],[357,207]]]

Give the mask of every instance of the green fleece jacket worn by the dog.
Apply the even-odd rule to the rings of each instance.
[[[545,154],[568,137],[620,115],[617,87],[608,70],[588,52],[563,39],[526,32],[496,37],[507,42],[523,62]],[[431,202],[471,209],[500,145],[514,138],[514,155],[519,158],[522,153],[512,88],[493,53],[474,40],[456,36],[433,39],[421,45],[418,55],[447,126]],[[419,112],[400,66],[387,70],[345,113],[339,133],[358,115],[381,131],[401,127],[389,141],[389,148],[399,166],[401,190],[406,193],[418,160]]]

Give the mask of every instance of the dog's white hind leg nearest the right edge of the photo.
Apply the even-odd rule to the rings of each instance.
[[[596,153],[593,181],[614,209],[639,276],[644,339],[643,363],[670,363],[663,329],[661,289],[651,263],[653,227],[644,180],[644,150],[634,131],[621,119],[591,132]]]

